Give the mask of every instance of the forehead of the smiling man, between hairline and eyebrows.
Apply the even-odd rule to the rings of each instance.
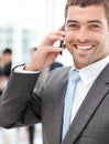
[[[89,6],[89,7],[78,7],[69,6],[67,11],[67,20],[101,20],[107,21],[103,6]]]

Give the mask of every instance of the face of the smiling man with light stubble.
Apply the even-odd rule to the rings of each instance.
[[[65,31],[66,48],[72,53],[77,69],[99,61],[108,54],[108,22],[103,6],[70,6]]]

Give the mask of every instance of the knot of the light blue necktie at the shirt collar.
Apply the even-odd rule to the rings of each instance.
[[[74,70],[69,73],[69,81],[76,83],[80,79],[79,72],[77,70]]]

